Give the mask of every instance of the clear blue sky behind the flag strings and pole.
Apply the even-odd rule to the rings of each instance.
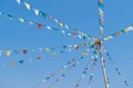
[[[99,36],[99,15],[98,0],[27,0],[31,6],[40,9],[63,23],[79,29],[92,36]],[[104,36],[115,33],[133,23],[132,0],[104,0],[105,29]],[[20,16],[30,21],[37,21],[42,24],[58,26],[54,22],[42,16],[35,16],[33,11],[28,11],[24,6],[17,4],[16,0],[0,0],[0,11]],[[129,81],[130,88],[133,87],[133,32],[114,37],[104,45],[108,52],[116,63],[120,72]],[[88,41],[86,41],[88,42]],[[83,43],[80,38],[73,38],[65,34],[45,29],[39,30],[37,25],[29,26],[18,20],[10,20],[0,16],[0,51],[6,50],[32,50],[39,47],[60,47],[63,45]],[[58,50],[59,51],[59,50]],[[7,57],[0,56],[0,88],[34,88],[38,81],[44,79],[50,73],[62,66],[68,61],[76,57],[80,51],[72,53],[59,54],[55,57],[43,57],[41,53],[31,53],[28,55],[16,55]],[[32,63],[23,65],[10,66],[11,61],[35,58],[42,56],[41,61],[34,59]],[[89,57],[88,57],[89,58]],[[85,61],[84,61],[85,62]],[[98,62],[100,63],[100,62]],[[81,64],[84,64],[83,62]],[[109,64],[106,62],[106,64]],[[74,88],[84,65],[71,70],[66,77],[54,85],[54,88]],[[106,65],[108,76],[111,88],[126,88],[115,69],[111,65]],[[83,79],[81,88],[88,88],[88,79]],[[48,88],[48,85],[54,80],[50,79],[47,85],[39,88]],[[101,66],[95,67],[94,78],[91,85],[93,88],[104,88]]]

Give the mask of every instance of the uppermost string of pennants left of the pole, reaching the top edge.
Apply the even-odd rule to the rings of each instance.
[[[50,14],[48,14],[48,13],[45,13],[45,12],[39,10],[39,9],[35,9],[33,6],[31,6],[30,3],[25,2],[24,0],[17,0],[17,2],[18,2],[19,4],[22,3],[28,10],[33,10],[33,12],[34,12],[35,15],[39,15],[39,14],[40,14],[40,15],[42,15],[43,18],[49,18],[51,21],[55,22],[61,29],[62,29],[62,28],[65,28],[68,31],[70,31],[70,30],[73,31],[73,30],[74,30],[75,32],[73,32],[73,34],[72,34],[74,37],[75,37],[75,36],[82,37],[82,36],[81,36],[81,34],[82,34],[82,35],[84,35],[83,38],[86,38],[86,37],[88,37],[88,40],[93,40],[93,37],[92,37],[91,35],[88,35],[88,34],[85,34],[85,33],[83,33],[83,32],[81,32],[81,31],[78,31],[78,29],[75,29],[75,28],[72,28],[72,26],[70,26],[70,25],[68,25],[68,24],[64,24],[62,21],[53,18],[52,15],[50,15]],[[80,33],[80,34],[76,35],[76,33]]]

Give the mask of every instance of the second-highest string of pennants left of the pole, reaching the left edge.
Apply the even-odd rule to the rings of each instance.
[[[37,25],[39,30],[42,30],[44,28],[44,29],[47,29],[49,31],[53,30],[54,32],[61,32],[62,34],[66,34],[69,36],[73,36],[73,37],[78,37],[78,38],[83,38],[83,40],[93,38],[93,40],[95,40],[95,37],[90,37],[86,34],[84,34],[83,32],[78,32],[75,29],[70,30],[70,31],[63,30],[61,28],[57,29],[57,28],[52,28],[50,25],[45,25],[45,24],[42,24],[42,23],[39,23],[39,22],[30,21],[30,20],[27,20],[27,19],[23,19],[23,18],[19,18],[19,16],[9,14],[9,13],[3,13],[3,12],[0,12],[0,15],[6,16],[6,18],[8,18],[10,20],[16,19],[19,22],[28,23],[29,25]]]

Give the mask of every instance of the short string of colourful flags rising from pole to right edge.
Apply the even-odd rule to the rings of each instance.
[[[122,34],[124,34],[124,33],[129,33],[129,32],[132,32],[132,31],[133,31],[133,25],[131,25],[131,26],[129,26],[129,28],[125,28],[125,29],[123,29],[123,30],[121,30],[121,31],[119,31],[119,32],[115,32],[115,33],[113,33],[113,34],[104,37],[103,41],[112,40],[112,38],[115,37],[115,36],[120,36],[120,35],[122,35]]]

